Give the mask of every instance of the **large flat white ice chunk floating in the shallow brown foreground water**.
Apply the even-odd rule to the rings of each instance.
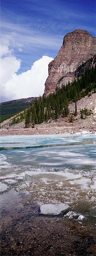
[[[43,214],[57,215],[69,208],[68,204],[43,204],[40,207],[40,212]]]

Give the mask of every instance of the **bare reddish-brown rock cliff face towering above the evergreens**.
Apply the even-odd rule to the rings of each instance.
[[[49,76],[45,82],[44,95],[55,92],[58,81],[72,82],[76,69],[96,54],[96,38],[84,30],[75,30],[66,34],[57,57],[49,63]]]

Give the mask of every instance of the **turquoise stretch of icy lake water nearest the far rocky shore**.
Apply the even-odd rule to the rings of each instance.
[[[12,164],[95,168],[95,135],[1,137],[1,153]]]

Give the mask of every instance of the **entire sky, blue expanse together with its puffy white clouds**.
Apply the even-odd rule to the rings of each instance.
[[[64,36],[96,36],[95,14],[95,0],[1,0],[1,102],[42,96]]]

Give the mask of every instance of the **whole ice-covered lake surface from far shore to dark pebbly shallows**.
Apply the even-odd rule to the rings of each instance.
[[[87,133],[2,136],[1,207],[9,201],[9,192],[13,199],[24,193],[39,206],[68,204],[64,217],[83,216],[81,221],[94,224],[95,145],[95,134]]]

